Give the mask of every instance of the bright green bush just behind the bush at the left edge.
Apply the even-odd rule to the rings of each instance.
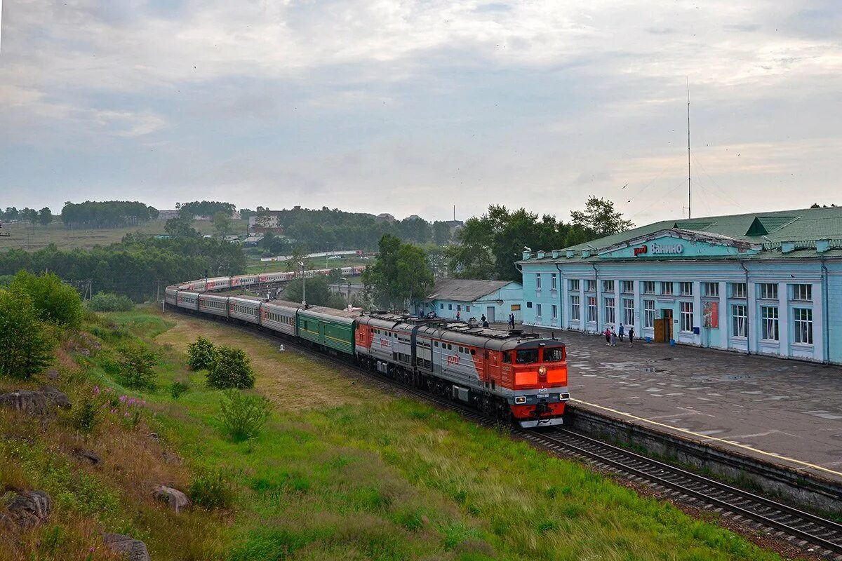
[[[20,271],[14,276],[11,288],[19,288],[29,294],[38,319],[67,327],[82,324],[82,298],[76,288],[62,283],[56,274],[48,273],[39,277]]]

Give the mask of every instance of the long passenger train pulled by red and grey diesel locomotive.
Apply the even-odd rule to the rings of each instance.
[[[359,314],[210,292],[294,276],[266,273],[190,281],[168,287],[165,301],[182,310],[260,325],[524,428],[562,424],[570,397],[567,351],[556,339],[472,322]]]

